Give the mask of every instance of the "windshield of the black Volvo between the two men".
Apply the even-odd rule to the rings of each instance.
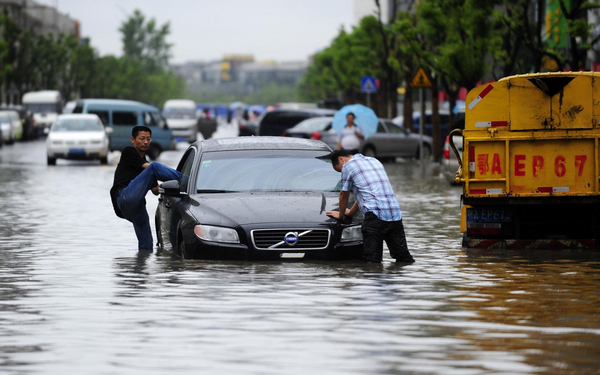
[[[196,188],[199,193],[339,191],[340,174],[326,151],[206,152]]]

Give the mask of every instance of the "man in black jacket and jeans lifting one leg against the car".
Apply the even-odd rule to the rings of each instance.
[[[146,151],[152,142],[152,130],[146,126],[135,126],[131,131],[132,146],[125,147],[115,170],[110,196],[118,217],[133,223],[139,250],[152,251],[152,232],[146,194],[149,190],[158,195],[158,182],[176,180],[179,172],[160,163],[149,163]]]

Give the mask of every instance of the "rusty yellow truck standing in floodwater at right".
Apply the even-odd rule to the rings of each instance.
[[[600,247],[600,73],[476,87],[462,136],[464,247]]]

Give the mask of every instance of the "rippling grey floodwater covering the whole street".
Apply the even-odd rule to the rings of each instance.
[[[414,164],[415,264],[180,261],[138,253],[114,166],[4,146],[0,374],[600,373],[598,253],[461,249],[460,189]]]

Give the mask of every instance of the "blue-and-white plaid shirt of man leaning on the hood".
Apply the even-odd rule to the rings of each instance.
[[[354,193],[360,211],[383,221],[402,219],[400,203],[379,160],[356,154],[342,167],[342,191]]]

